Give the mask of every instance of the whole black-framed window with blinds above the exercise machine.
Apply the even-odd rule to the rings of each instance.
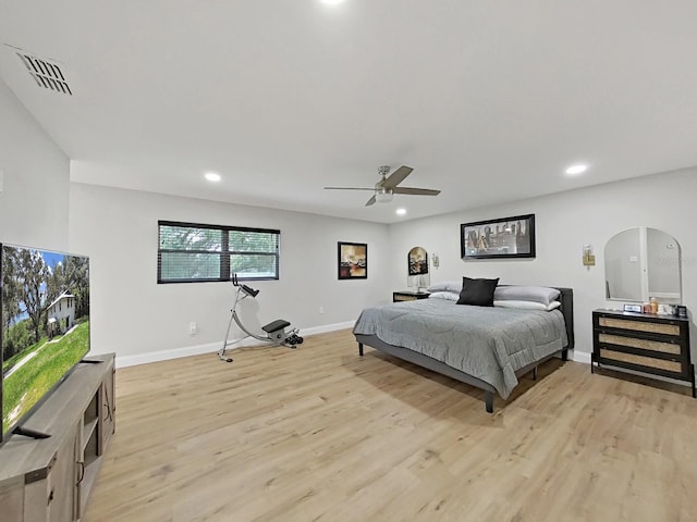
[[[158,222],[158,283],[278,279],[281,231]]]

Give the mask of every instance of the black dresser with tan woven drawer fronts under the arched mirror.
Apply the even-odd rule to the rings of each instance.
[[[590,369],[602,364],[688,382],[697,397],[687,319],[595,310]]]

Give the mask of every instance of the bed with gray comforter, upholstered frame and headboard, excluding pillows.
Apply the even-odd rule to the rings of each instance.
[[[560,304],[552,310],[433,298],[366,308],[353,328],[358,353],[370,346],[480,388],[492,413],[494,393],[506,399],[521,375],[535,378],[539,364],[559,356],[565,361],[574,347],[573,290],[554,289]]]

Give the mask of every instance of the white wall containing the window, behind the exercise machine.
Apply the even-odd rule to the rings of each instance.
[[[157,284],[158,220],[281,231],[280,279],[250,284],[261,293],[243,302],[245,325],[348,326],[391,299],[388,225],[76,183],[70,197],[70,248],[90,257],[93,352],[119,364],[217,350],[230,318],[231,283]],[[338,241],[368,244],[367,279],[338,279]]]

